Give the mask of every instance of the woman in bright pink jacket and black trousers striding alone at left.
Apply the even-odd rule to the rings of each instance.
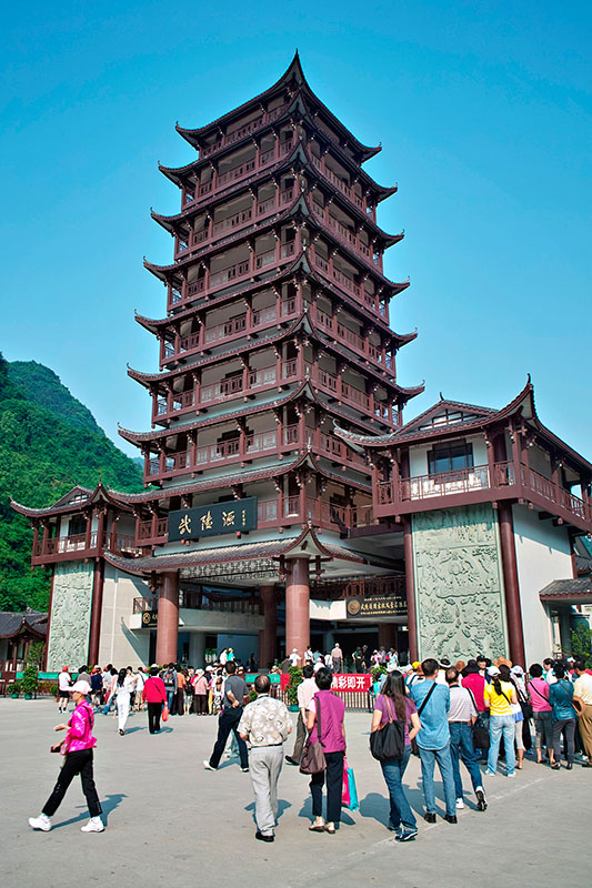
[[[74,710],[67,725],[56,725],[53,730],[66,730],[66,738],[62,743],[51,747],[52,753],[61,751],[63,764],[53,791],[46,801],[39,817],[30,817],[29,826],[31,829],[40,829],[49,833],[51,829],[51,818],[58,810],[68,787],[77,774],[80,774],[82,791],[89,806],[90,820],[86,826],[80,827],[82,833],[102,833],[104,824],[101,819],[102,808],[94,786],[93,776],[93,748],[97,745],[92,736],[94,725],[94,714],[88,700],[90,694],[88,682],[76,682],[71,687],[71,695],[74,702]]]

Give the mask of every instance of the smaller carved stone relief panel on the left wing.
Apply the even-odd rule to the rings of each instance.
[[[49,627],[48,672],[78,669],[89,653],[94,564],[57,564]]]

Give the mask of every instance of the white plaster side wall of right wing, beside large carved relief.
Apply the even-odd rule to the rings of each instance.
[[[528,667],[553,649],[551,619],[539,593],[552,579],[571,579],[572,562],[565,527],[539,521],[538,512],[526,506],[514,506],[512,513]]]

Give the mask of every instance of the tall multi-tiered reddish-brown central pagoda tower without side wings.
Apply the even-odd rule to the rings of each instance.
[[[137,569],[159,588],[158,662],[177,658],[179,584],[225,578],[259,588],[267,665],[284,584],[287,649],[303,650],[311,577],[388,572],[353,546],[374,524],[372,473],[334,431],[393,432],[422,391],[395,372],[417,334],[389,325],[409,282],[384,276],[384,250],[403,235],[379,228],[377,206],[397,188],[363,171],[381,149],[314,95],[298,53],[267,92],[177,130],[198,157],[160,167],[181,208],[152,213],[174,261],[144,263],[167,312],[136,317],[158,340],[160,372],[129,370],[152,428],[120,430],[144,457]]]

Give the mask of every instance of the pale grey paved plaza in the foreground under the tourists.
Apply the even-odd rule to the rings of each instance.
[[[146,714],[130,718],[124,737],[116,719],[97,716],[96,780],[107,830],[80,833],[88,811],[77,778],[51,833],[33,833],[27,818],[39,813],[53,786],[59,758],[49,746],[58,737],[51,727],[60,720],[54,703],[0,700],[3,888],[69,888],[82,880],[123,888],[498,888],[502,879],[555,888],[566,874],[578,874],[574,861],[588,840],[592,771],[574,766],[555,773],[526,760],[514,780],[484,777],[485,813],[476,811],[466,794],[458,826],[440,817],[428,826],[419,761],[412,758],[405,783],[420,833],[414,842],[398,845],[385,828],[385,785],[368,749],[370,715],[362,713],[345,720],[360,810],[344,813],[335,836],[308,831],[308,778],[285,766],[275,842],[255,841],[249,775],[240,773],[237,759],[217,773],[202,766],[217,719],[174,717],[150,736]]]

